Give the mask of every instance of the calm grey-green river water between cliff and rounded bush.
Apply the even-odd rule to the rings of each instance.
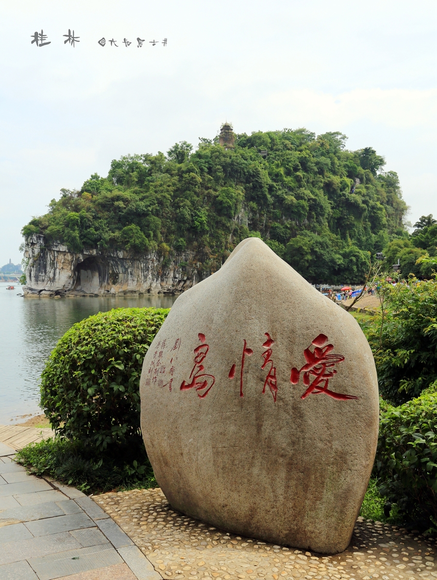
[[[0,282],[0,425],[41,414],[39,377],[57,340],[75,322],[113,308],[169,308],[176,296],[21,298]],[[23,417],[23,415],[27,415]]]

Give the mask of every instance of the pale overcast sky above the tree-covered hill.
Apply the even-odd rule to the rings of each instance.
[[[0,11],[0,266],[20,262],[21,227],[62,187],[124,154],[197,146],[226,119],[239,133],[341,131],[398,172],[412,223],[437,216],[435,0],[0,0]],[[51,44],[37,47],[41,30]]]

